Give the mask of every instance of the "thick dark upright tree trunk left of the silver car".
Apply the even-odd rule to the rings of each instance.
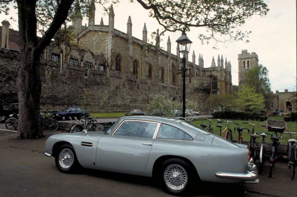
[[[36,1],[18,0],[19,16],[19,72],[16,80],[19,97],[19,122],[17,139],[38,139],[43,137],[40,129],[39,74],[40,53],[37,49]]]

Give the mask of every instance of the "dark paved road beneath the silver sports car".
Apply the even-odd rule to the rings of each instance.
[[[46,139],[60,131],[44,131],[39,140],[14,140],[0,131],[1,196],[171,196],[152,178],[83,169],[76,174],[58,171],[53,157],[45,157]],[[258,184],[197,183],[193,196],[297,196],[286,163],[277,163],[273,178],[268,166]]]

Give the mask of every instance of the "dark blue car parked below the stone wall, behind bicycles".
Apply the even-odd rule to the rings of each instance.
[[[80,107],[67,107],[62,111],[51,113],[51,117],[58,120],[67,120],[69,117],[72,119],[74,117],[89,115],[86,110],[81,109]]]

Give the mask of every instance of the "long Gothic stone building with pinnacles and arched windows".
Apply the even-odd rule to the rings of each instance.
[[[79,48],[69,51],[65,46],[46,47],[40,66],[42,107],[59,108],[80,105],[85,101],[92,106],[92,110],[97,111],[143,109],[149,102],[151,93],[161,93],[174,100],[182,100],[182,73],[179,71],[182,60],[178,48],[178,55],[171,54],[170,38],[167,40],[167,50],[162,50],[158,32],[155,45],[147,43],[148,31],[145,23],[143,38],[140,40],[132,36],[130,16],[127,33],[114,28],[114,17],[111,7],[108,25],[104,25],[102,18],[100,24],[95,25],[92,18],[89,19],[88,26],[83,26],[82,17],[77,13],[72,25]],[[1,83],[13,83],[16,73],[13,74],[11,70],[17,69],[17,55],[10,54],[9,50],[21,49],[14,49],[10,45],[10,32],[13,30],[7,31],[9,23],[2,22],[2,25],[0,71],[10,74],[0,74],[3,77]],[[186,67],[191,69],[186,73],[187,87],[199,86],[201,82],[207,83],[209,87],[207,93],[191,93],[196,95],[201,108],[207,106],[205,98],[209,93],[232,93],[231,62],[227,58],[224,62],[223,56],[219,56],[216,65],[213,57],[209,68],[204,68],[202,54],[199,54],[198,65],[194,51],[192,62],[188,60],[188,55],[186,58]],[[10,64],[7,63],[8,59]],[[5,91],[1,85],[2,100],[7,96]],[[81,96],[73,96],[74,92]]]

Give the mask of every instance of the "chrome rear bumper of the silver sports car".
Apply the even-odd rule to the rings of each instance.
[[[222,178],[239,179],[245,181],[245,183],[258,183],[259,179],[256,179],[258,177],[257,166],[254,164],[253,159],[248,162],[248,168],[249,170],[243,173],[216,172],[216,176]]]

